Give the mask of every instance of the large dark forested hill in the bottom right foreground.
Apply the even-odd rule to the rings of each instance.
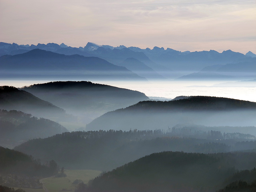
[[[236,174],[238,164],[246,164],[244,168],[252,170],[255,163],[256,153],[154,153],[95,178],[87,191],[212,192],[223,188],[227,182],[255,180]],[[234,174],[236,177],[231,180]],[[250,175],[255,175],[255,170],[247,174]]]

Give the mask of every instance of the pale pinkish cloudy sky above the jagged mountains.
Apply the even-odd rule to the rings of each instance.
[[[256,0],[0,0],[0,41],[256,54]]]

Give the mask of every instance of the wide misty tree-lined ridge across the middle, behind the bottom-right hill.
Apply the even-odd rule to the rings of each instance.
[[[161,130],[65,132],[30,140],[15,149],[42,160],[53,158],[65,168],[96,170],[111,170],[154,152],[216,153],[256,149],[255,136],[251,135],[211,130],[198,131],[197,137],[189,138],[177,130],[167,133]]]

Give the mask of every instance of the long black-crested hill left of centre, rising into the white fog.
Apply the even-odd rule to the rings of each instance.
[[[138,91],[88,81],[48,82],[26,86],[22,90],[80,116],[84,124],[108,111],[149,100]]]

